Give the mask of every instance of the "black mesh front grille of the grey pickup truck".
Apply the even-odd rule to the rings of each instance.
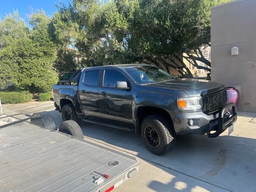
[[[211,94],[205,94],[203,96],[204,98],[204,108],[203,111],[206,114],[211,114],[216,112],[219,108],[226,105],[227,102],[227,93],[226,89],[211,93]]]

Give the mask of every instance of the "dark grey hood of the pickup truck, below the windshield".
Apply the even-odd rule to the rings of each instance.
[[[224,85],[216,82],[200,79],[173,79],[158,84],[150,84],[150,87],[170,90],[180,90],[189,96],[200,94],[202,91],[212,92],[222,90]]]

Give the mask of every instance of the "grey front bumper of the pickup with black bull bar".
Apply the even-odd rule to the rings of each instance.
[[[182,113],[172,119],[177,135],[207,134],[208,137],[218,137],[228,127],[232,126],[237,119],[236,106],[234,103],[222,107],[218,113],[206,115],[202,112]],[[193,120],[194,124],[189,122]]]

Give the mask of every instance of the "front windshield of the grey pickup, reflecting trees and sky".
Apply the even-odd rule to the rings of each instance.
[[[155,84],[176,79],[162,69],[152,65],[129,66],[124,68],[124,70],[129,73],[138,84]]]

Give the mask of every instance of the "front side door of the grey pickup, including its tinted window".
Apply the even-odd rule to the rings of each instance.
[[[129,85],[129,80],[118,69],[104,69],[98,101],[101,116],[132,123],[132,91],[116,89],[117,81],[126,81]]]

